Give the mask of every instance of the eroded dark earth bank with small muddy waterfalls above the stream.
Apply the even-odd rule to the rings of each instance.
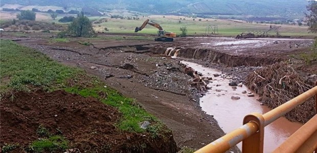
[[[190,59],[199,59],[209,63],[225,64],[230,67],[235,66],[261,66],[263,64],[273,64],[283,61],[282,58],[267,58],[256,56],[235,56],[227,53],[221,53],[213,49],[201,48],[152,48],[154,54],[164,54],[165,56],[182,57]]]

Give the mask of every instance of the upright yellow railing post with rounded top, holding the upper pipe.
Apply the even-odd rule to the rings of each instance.
[[[258,132],[242,141],[243,153],[263,153],[264,145],[264,117],[259,113],[246,115],[243,125],[248,122],[255,122],[258,125]]]

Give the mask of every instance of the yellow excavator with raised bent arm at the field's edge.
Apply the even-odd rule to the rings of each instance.
[[[171,33],[171,32],[165,32],[163,30],[163,28],[161,27],[161,25],[159,23],[155,23],[153,21],[150,21],[149,19],[145,20],[143,22],[143,24],[141,25],[141,27],[137,27],[135,28],[134,32],[137,33],[138,31],[141,31],[143,28],[145,28],[145,26],[147,24],[150,24],[152,25],[153,27],[159,29],[159,31],[157,31],[157,36],[159,36],[158,38],[155,38],[154,40],[155,41],[165,41],[165,42],[168,42],[168,41],[173,41],[174,39],[171,38],[171,37],[176,37],[176,33]]]

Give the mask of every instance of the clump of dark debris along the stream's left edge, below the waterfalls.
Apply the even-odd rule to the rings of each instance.
[[[185,73],[193,78],[193,80],[190,82],[192,87],[198,89],[198,91],[200,92],[207,92],[207,83],[209,82],[209,80],[212,80],[212,78],[202,77],[191,67],[186,67]]]

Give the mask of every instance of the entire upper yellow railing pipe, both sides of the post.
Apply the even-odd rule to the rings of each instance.
[[[317,85],[317,83],[316,83]],[[302,93],[301,95],[287,101],[283,105],[265,113],[263,115],[264,118],[264,126],[270,124],[276,119],[282,117],[286,113],[295,109],[297,106],[303,104],[308,98],[314,96],[316,94],[317,98],[317,86],[314,88]],[[316,99],[316,107],[317,107],[317,99]],[[245,140],[246,138],[254,135],[259,131],[259,125],[255,122],[248,122],[238,129],[228,133],[227,135],[215,140],[214,142],[200,148],[195,151],[195,153],[206,153],[206,152],[225,152],[237,145],[239,142]],[[260,142],[259,142],[260,143]],[[263,142],[262,142],[263,143]],[[262,144],[263,145],[263,144]],[[242,150],[243,151],[243,150]]]

